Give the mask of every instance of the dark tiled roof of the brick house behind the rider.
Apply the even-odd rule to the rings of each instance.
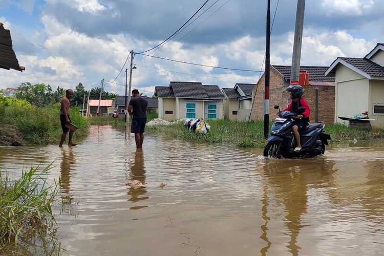
[[[291,66],[273,65],[273,68],[278,70],[286,80],[291,79]],[[334,75],[325,76],[325,72],[328,68],[329,67],[322,66],[301,66],[300,71],[307,71],[309,73],[310,81],[334,82]]]

